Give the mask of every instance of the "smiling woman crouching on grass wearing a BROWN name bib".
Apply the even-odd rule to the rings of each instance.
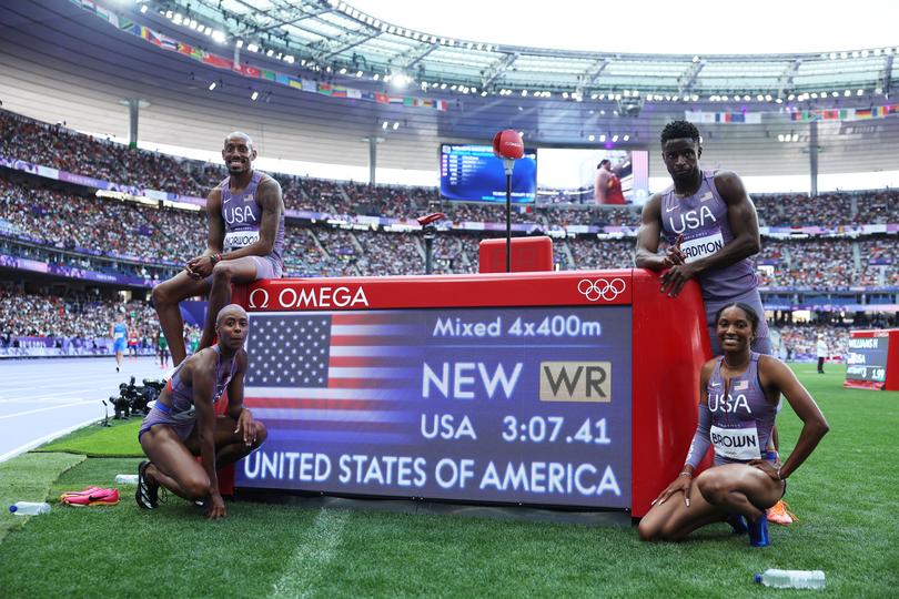
[[[750,545],[768,545],[765,510],[782,497],[787,477],[828,432],[821,410],[792,370],[749,349],[758,326],[750,306],[724,306],[716,322],[724,356],[703,366],[699,426],[683,470],[640,521],[643,540],[676,541],[701,526],[726,520],[735,532],[748,529]],[[762,459],[760,453],[768,446],[780,394],[802,420],[796,448],[782,466]],[[709,445],[715,447],[715,466],[694,484],[693,470]]]

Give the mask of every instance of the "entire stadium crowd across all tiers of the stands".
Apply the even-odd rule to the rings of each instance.
[[[64,124],[44,124],[0,110],[0,155],[97,179],[186,195],[205,195],[226,175],[223,166],[131,150],[80,134]],[[368,185],[274,174],[289,210],[331,215],[414,217],[445,212],[454,223],[504,222],[504,206],[441,202],[436,189]],[[761,225],[838,226],[899,223],[899,193],[754,196]],[[638,209],[565,203],[519,206],[516,223],[534,232],[567,225],[639,225]],[[321,221],[290,220],[285,235],[289,276],[377,276],[424,273],[425,243],[417,233],[330,227]],[[110,273],[159,277],[173,272],[205,246],[202,213],[100,199],[92,190],[47,183],[0,169],[0,251],[22,257]],[[441,232],[434,241],[434,273],[477,271],[482,235]],[[628,268],[634,241],[595,236],[554,238],[560,270]],[[766,238],[758,256],[762,285],[822,291],[899,285],[899,251],[893,236]],[[168,265],[169,271],[154,268]],[[148,268],[150,268],[148,271]],[[105,336],[122,305],[90,296],[0,292],[6,338],[24,335]],[[139,314],[142,336],[153,334],[155,316],[145,304],[124,306]],[[828,328],[828,331],[830,331]],[[831,334],[831,333],[828,333]],[[832,333],[836,335],[837,333]],[[817,339],[812,326],[786,325],[785,347],[804,352]],[[828,339],[844,347],[844,338]],[[831,343],[832,342],[832,343]]]

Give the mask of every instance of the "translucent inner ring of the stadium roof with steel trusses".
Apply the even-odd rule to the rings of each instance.
[[[883,97],[899,79],[897,45],[785,54],[636,54],[504,45],[416,31],[342,0],[147,0],[173,23],[243,52],[281,57],[335,80],[461,94],[537,94],[645,102],[776,102]],[[736,17],[734,17],[736,18]],[[837,44],[835,44],[837,45]],[[812,97],[812,94],[815,94]],[[747,98],[748,97],[748,98]]]

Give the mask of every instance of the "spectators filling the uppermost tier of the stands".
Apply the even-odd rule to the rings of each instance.
[[[205,196],[226,172],[223,165],[131,150],[124,145],[0,110],[0,155],[52,166],[115,183]],[[368,185],[281,173],[289,210],[326,214],[410,217],[440,209],[454,222],[503,222],[503,209],[492,204],[440,202],[435,187]],[[822,194],[752,195],[760,223],[767,226],[857,225],[899,222],[899,192],[882,190]],[[518,223],[637,226],[639,212],[627,207],[553,204],[513,214]]]

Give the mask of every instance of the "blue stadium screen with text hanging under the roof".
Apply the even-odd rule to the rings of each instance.
[[[534,202],[537,194],[537,154],[525,149],[512,172],[512,202]],[[441,196],[479,202],[506,201],[503,161],[489,145],[441,144]]]

